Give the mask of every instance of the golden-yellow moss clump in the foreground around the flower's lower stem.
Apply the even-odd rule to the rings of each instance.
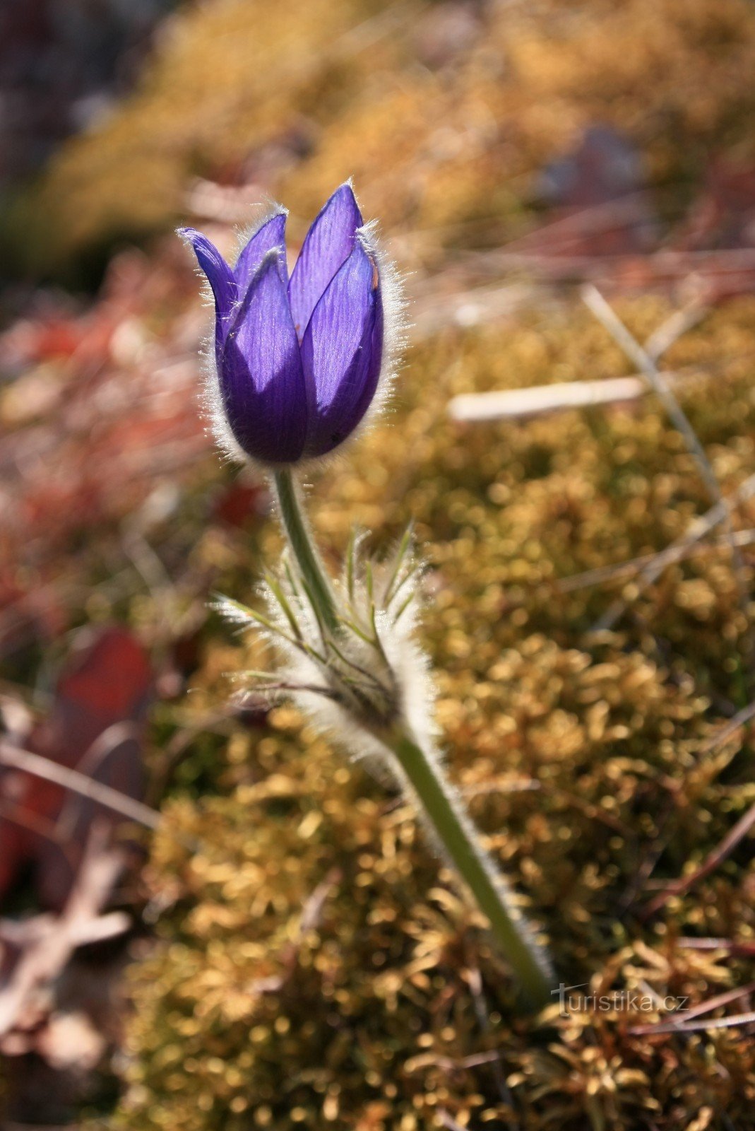
[[[668,310],[623,312],[642,335]],[[669,357],[697,374],[683,399],[727,491],[753,463],[753,326],[743,300]],[[752,947],[752,853],[641,912],[755,802],[741,732],[714,741],[748,694],[729,551],[705,549],[641,597],[625,580],[572,595],[558,580],[676,538],[708,506],[697,473],[651,400],[529,424],[445,415],[454,392],[621,372],[587,312],[449,330],[414,351],[396,413],[323,474],[314,515],[336,549],[354,520],[378,546],[415,516],[450,774],[564,982],[692,1004],[752,978],[746,956],[688,946]],[[277,537],[266,528],[266,553]],[[254,569],[250,554],[250,590]],[[617,631],[591,637],[617,594]],[[210,647],[198,710],[249,661]],[[633,1031],[661,1005],[518,1018],[505,962],[411,811],[289,708],[238,722],[215,782],[216,795],[167,803],[154,846],[159,940],[132,973],[118,1125],[755,1126],[746,1029]]]

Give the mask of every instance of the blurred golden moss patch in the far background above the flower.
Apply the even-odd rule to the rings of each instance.
[[[193,176],[285,198],[296,228],[354,175],[432,262],[517,231],[544,164],[596,123],[625,131],[659,187],[710,150],[752,161],[754,67],[747,0],[190,5],[137,92],[25,195],[21,253],[57,270],[162,231]]]

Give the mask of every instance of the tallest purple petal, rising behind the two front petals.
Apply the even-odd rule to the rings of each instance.
[[[290,311],[300,338],[326,287],[354,250],[362,213],[350,184],[341,184],[306,233],[288,285]]]

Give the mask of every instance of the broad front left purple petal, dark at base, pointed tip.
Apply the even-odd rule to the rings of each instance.
[[[281,275],[283,248],[268,252],[231,325],[219,364],[231,431],[254,459],[288,464],[306,439],[307,404],[298,339]]]

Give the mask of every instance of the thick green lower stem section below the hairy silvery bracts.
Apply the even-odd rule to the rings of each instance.
[[[441,767],[406,734],[399,734],[390,745],[442,846],[487,915],[493,934],[517,972],[528,999],[538,1009],[547,1005],[553,1001],[553,979],[547,959],[512,907],[503,878],[478,846],[471,822]]]

